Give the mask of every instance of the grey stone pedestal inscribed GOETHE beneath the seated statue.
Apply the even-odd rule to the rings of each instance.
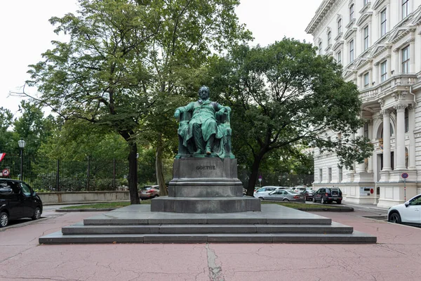
[[[243,196],[236,159],[189,157],[175,159],[168,197],[157,197],[151,211],[234,213],[260,211],[260,200]]]

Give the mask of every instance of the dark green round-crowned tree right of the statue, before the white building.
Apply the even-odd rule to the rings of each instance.
[[[338,152],[348,167],[372,151],[367,139],[351,137],[363,124],[359,91],[342,79],[333,58],[316,55],[311,44],[283,39],[267,47],[239,46],[216,59],[210,74],[214,91],[232,106],[234,152],[253,155],[248,195],[262,160],[276,150],[296,155],[311,144]],[[326,130],[341,132],[341,141],[326,138]]]

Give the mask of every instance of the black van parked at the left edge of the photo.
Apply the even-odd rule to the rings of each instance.
[[[42,214],[42,201],[23,181],[0,178],[0,228],[18,218],[36,220]]]

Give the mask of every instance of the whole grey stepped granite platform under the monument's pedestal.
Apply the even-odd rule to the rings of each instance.
[[[39,237],[41,244],[69,243],[375,243],[377,238],[277,204],[262,211],[180,214],[131,205],[85,218],[61,231]]]

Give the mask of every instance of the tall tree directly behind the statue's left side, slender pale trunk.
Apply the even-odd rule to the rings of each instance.
[[[152,1],[161,15],[161,31],[152,38],[148,62],[156,103],[146,120],[145,136],[156,148],[156,181],[166,195],[163,159],[177,147],[176,107],[197,98],[204,63],[211,51],[222,51],[251,39],[234,8],[238,0]]]

